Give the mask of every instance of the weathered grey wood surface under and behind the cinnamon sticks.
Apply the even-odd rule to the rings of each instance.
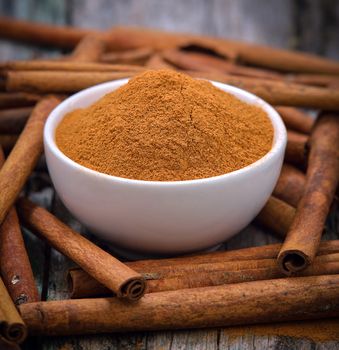
[[[128,24],[244,39],[308,50],[339,58],[339,3],[336,0],[0,0],[0,13],[49,23],[108,28]],[[0,59],[54,52],[0,42]],[[45,169],[35,172],[26,193],[73,228],[83,231],[60,203]],[[338,238],[338,215],[329,219],[328,237]],[[25,241],[43,299],[67,298],[69,259],[25,231]],[[278,241],[254,226],[224,244],[240,248]],[[339,330],[338,330],[339,331]],[[31,339],[26,349],[338,349],[336,342],[244,334],[227,329],[147,332]]]

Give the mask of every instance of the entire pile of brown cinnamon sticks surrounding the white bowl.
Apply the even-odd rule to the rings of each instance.
[[[339,240],[320,242],[338,186],[339,62],[197,35],[7,18],[0,18],[0,37],[71,50],[54,59],[0,63],[4,342],[20,343],[27,331],[65,335],[339,316]],[[255,224],[282,244],[122,263],[18,199],[42,153],[45,120],[65,96],[161,68],[235,85],[276,106],[288,129],[285,163]],[[298,107],[316,109],[317,118]],[[78,265],[69,271],[71,299],[40,301],[20,224]]]

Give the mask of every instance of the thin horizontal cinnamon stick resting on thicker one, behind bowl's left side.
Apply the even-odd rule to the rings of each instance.
[[[71,71],[71,72],[141,72],[143,67],[107,64],[96,62],[78,62],[78,61],[9,61],[4,64],[4,69],[13,71]]]

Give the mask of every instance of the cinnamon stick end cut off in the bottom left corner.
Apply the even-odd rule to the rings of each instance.
[[[27,328],[0,278],[0,335],[9,342],[22,343]]]

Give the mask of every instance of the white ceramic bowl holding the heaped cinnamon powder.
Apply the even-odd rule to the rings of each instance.
[[[274,127],[269,153],[221,176],[174,182],[129,180],[72,161],[55,143],[57,125],[66,113],[91,105],[127,81],[80,91],[55,108],[47,120],[47,165],[65,206],[97,236],[134,252],[179,254],[212,247],[235,235],[258,214],[278,179],[286,146],[286,130],[278,113],[248,92],[213,82],[263,108]]]

